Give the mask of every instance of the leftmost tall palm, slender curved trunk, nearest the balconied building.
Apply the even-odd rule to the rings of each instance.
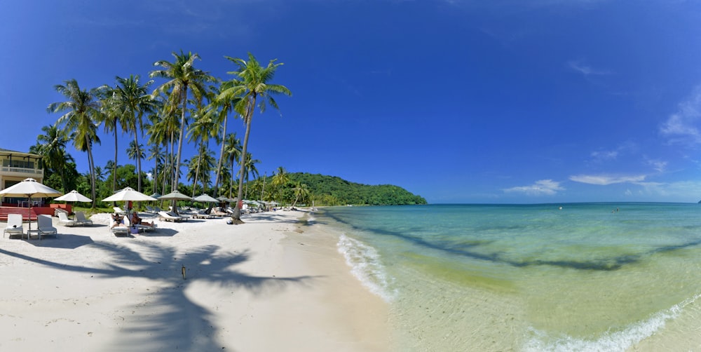
[[[90,186],[93,195],[93,208],[95,208],[95,161],[93,160],[93,143],[100,143],[97,137],[97,121],[100,121],[100,102],[95,97],[100,94],[101,88],[81,90],[75,79],[65,81],[65,86],[54,86],[68,100],[54,102],[46,108],[49,112],[62,113],[57,123],[62,125],[64,131],[72,135],[73,145],[80,151],[88,152],[88,164],[90,165]]]

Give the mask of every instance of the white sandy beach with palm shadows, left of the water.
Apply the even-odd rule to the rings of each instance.
[[[391,351],[388,306],[306,217],[156,221],[116,237],[102,214],[54,218],[59,238],[4,237],[0,350]]]

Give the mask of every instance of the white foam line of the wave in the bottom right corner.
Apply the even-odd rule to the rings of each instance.
[[[675,304],[669,309],[653,314],[647,320],[630,325],[624,330],[606,332],[599,339],[576,339],[559,337],[552,340],[544,332],[531,329],[533,337],[524,346],[524,351],[627,351],[640,341],[651,337],[655,332],[665,327],[668,320],[679,316],[684,307],[693,304],[701,297],[701,293]]]

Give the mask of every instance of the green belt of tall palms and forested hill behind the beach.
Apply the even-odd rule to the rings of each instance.
[[[273,82],[283,63],[261,65],[251,53],[245,59],[226,56],[234,70],[229,80],[222,80],[197,68],[196,53],[181,50],[172,57],[154,63],[149,81],[132,74],[116,76],[114,86],[86,89],[75,79],[56,85],[63,99],[47,110],[60,115],[55,124],[41,128],[30,149],[43,156],[44,182],[64,192],[89,194],[93,208],[106,206],[100,199],[127,186],[147,194],[178,190],[292,206],[426,203],[400,187],[288,173],[283,167],[261,176],[261,161],[249,150],[252,120],[269,107],[279,111],[275,97],[292,95]],[[238,131],[243,141],[231,130],[231,119],[243,120],[245,129]],[[109,139],[114,136],[114,144],[100,144],[100,129]],[[120,142],[125,135],[127,140]],[[86,153],[89,170],[84,175],[76,170],[76,158],[83,156],[69,154],[69,143]],[[193,155],[184,155],[184,144],[194,146]],[[114,148],[114,159],[98,165],[93,158],[98,146]],[[120,163],[118,151],[126,152],[126,163]],[[152,168],[144,170],[146,161]],[[233,218],[239,219],[235,209]]]

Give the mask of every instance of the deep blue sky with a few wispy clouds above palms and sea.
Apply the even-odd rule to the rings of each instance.
[[[68,79],[147,79],[181,49],[227,79],[224,55],[250,51],[283,62],[275,83],[293,93],[254,117],[261,173],[397,184],[430,203],[696,202],[700,22],[700,3],[670,0],[11,1],[0,121],[19,128],[0,147],[29,149]],[[102,136],[98,165],[113,153]]]

